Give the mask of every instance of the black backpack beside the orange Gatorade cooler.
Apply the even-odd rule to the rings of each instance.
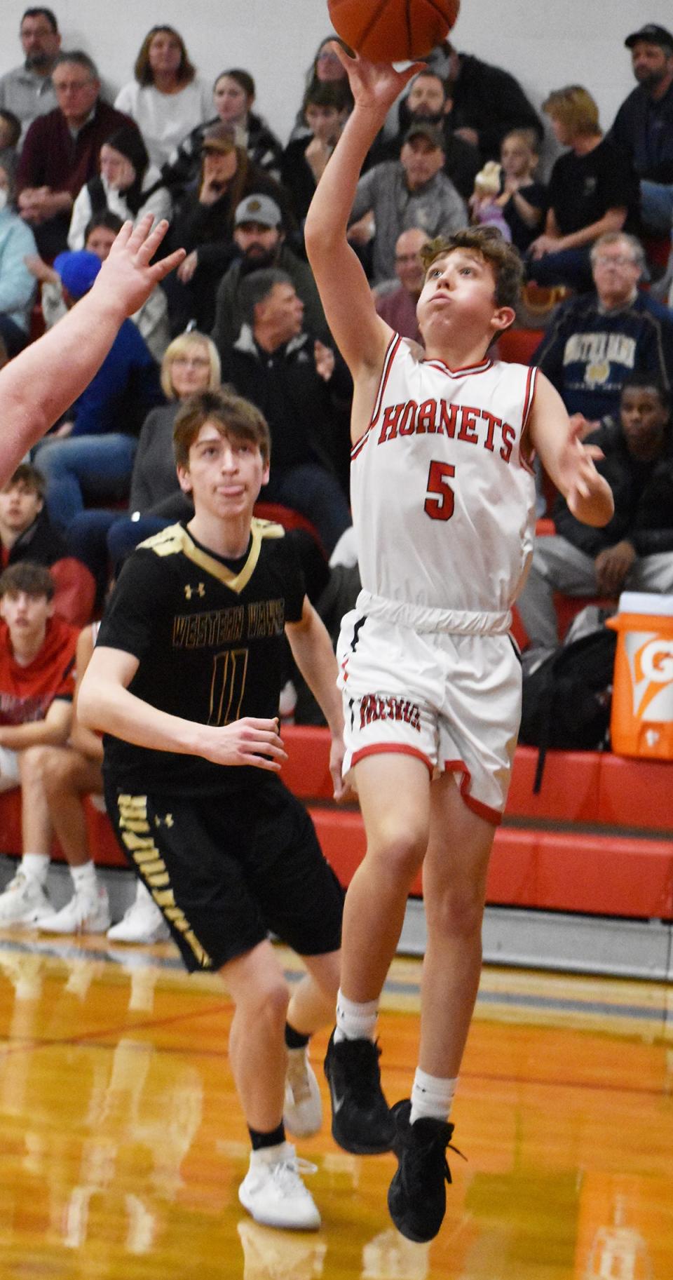
[[[609,739],[617,634],[601,626],[554,649],[530,672],[523,655],[519,742],[539,746],[534,792],[546,751],[604,750]]]

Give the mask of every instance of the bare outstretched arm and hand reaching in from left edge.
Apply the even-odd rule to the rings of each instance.
[[[0,484],[88,385],[119,325],[182,262],[183,250],[151,264],[168,230],[152,216],[124,223],[93,288],[0,372]]]

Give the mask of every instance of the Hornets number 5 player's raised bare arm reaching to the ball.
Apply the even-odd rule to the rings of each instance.
[[[418,65],[395,72],[386,64],[348,58],[338,44],[334,49],[348,72],[354,108],[311,201],[305,241],[328,324],[357,384],[362,376],[377,375],[392,330],[376,315],[345,233],[365,156]]]

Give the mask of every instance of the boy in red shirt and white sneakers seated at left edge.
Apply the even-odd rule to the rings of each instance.
[[[47,568],[20,561],[0,577],[0,791],[22,787],[20,867],[0,893],[0,924],[35,924],[52,908],[44,884],[51,823],[26,767],[33,746],[63,745],[70,731],[78,630],[54,613]]]

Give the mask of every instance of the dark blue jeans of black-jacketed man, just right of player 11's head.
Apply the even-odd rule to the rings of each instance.
[[[260,502],[292,507],[311,521],[328,558],[344,529],[353,524],[339,481],[320,462],[302,462],[274,471],[271,460],[271,477],[260,494]]]

